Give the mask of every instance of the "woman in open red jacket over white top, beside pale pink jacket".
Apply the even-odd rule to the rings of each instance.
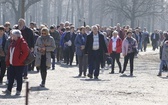
[[[110,53],[110,56],[113,59],[110,74],[114,74],[115,60],[117,61],[118,66],[119,66],[119,73],[121,73],[120,53],[122,51],[121,50],[122,39],[118,36],[117,31],[114,31],[112,34],[113,36],[111,37],[109,45],[108,45],[108,53]]]

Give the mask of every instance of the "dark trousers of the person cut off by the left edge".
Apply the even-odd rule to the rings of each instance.
[[[0,82],[3,82],[3,77],[5,76],[6,72],[6,63],[5,59],[0,60]]]

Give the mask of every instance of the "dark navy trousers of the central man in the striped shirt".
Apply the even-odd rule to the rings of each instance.
[[[89,74],[93,75],[95,77],[99,76],[99,71],[100,71],[100,54],[98,50],[93,50],[92,54],[88,56],[88,61],[89,61]]]

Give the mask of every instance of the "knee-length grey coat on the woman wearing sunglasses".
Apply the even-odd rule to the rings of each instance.
[[[45,48],[46,48],[46,66],[50,67],[50,65],[51,65],[51,52],[54,51],[54,49],[56,48],[56,45],[55,45],[54,38],[52,36],[48,35],[45,38],[46,38],[46,41],[44,42],[42,37],[39,36],[36,41],[36,44],[35,44],[34,50],[35,50],[35,54],[36,54],[36,59],[35,59],[36,67],[40,66],[41,55],[42,55],[42,53],[38,51],[38,48],[43,47],[44,44],[45,44]]]

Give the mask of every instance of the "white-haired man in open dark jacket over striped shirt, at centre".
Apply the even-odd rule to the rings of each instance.
[[[104,36],[98,32],[97,26],[92,26],[92,32],[87,36],[85,54],[88,54],[89,74],[88,77],[98,79],[100,62],[103,53],[107,53]]]

